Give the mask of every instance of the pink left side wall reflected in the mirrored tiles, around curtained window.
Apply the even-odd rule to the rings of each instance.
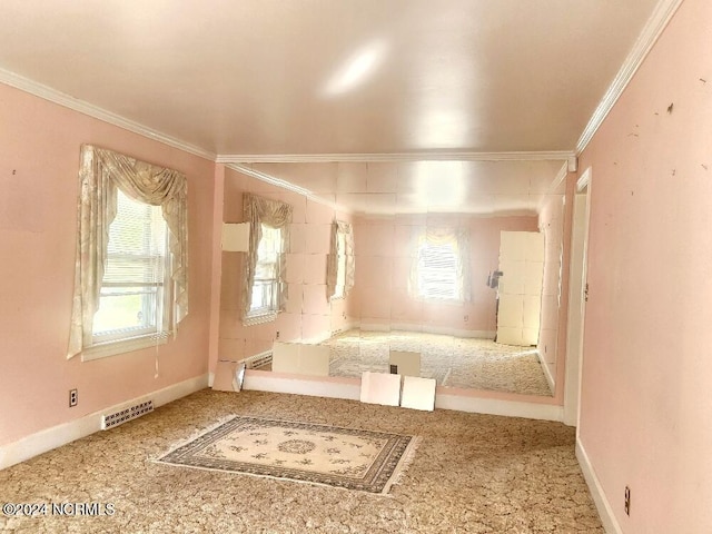
[[[284,171],[284,169],[283,169]],[[284,175],[288,179],[288,169]],[[217,359],[236,360],[271,348],[279,332],[279,340],[328,337],[332,330],[344,328],[348,322],[347,299],[328,301],[326,298],[326,259],[335,218],[350,221],[348,214],[297,192],[264,182],[231,169],[225,170],[224,220],[241,222],[243,197],[254,192],[275,198],[294,208],[290,233],[290,253],[287,255],[289,297],[286,312],[273,323],[243,326],[240,291],[243,288],[244,253],[222,253],[220,325]]]

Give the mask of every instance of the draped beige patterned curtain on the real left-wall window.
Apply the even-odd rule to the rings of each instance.
[[[174,333],[188,315],[188,182],[177,170],[139,161],[91,145],[81,147],[75,294],[68,358],[92,345],[107,263],[109,227],[117,212],[117,188],[135,200],[160,206],[168,226]],[[167,329],[166,328],[166,329]]]

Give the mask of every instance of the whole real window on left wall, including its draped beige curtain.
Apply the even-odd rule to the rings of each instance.
[[[188,315],[188,182],[82,145],[75,291],[67,357],[167,343]]]

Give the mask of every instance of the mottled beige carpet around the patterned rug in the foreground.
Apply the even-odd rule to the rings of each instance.
[[[228,414],[416,434],[389,495],[152,462]],[[603,533],[558,423],[209,389],[0,471],[0,502],[112,503],[101,517],[0,515],[8,532]]]

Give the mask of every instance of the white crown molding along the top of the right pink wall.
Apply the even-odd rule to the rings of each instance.
[[[660,0],[653,14],[651,14],[643,27],[643,31],[641,31],[641,34],[637,37],[633,49],[621,66],[619,73],[613,79],[609,90],[599,102],[593,116],[584,128],[576,144],[576,155],[584,151],[681,3],[682,0]]]

